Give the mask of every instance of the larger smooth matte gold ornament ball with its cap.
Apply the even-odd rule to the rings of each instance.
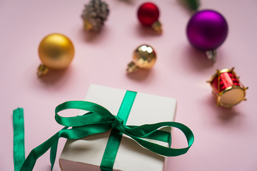
[[[74,56],[74,46],[71,40],[62,34],[49,34],[40,42],[38,54],[42,62],[37,72],[40,77],[45,75],[48,69],[67,68]]]

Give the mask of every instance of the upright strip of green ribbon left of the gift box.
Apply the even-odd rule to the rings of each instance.
[[[25,160],[24,148],[24,118],[23,108],[17,108],[13,111],[13,127],[14,127],[14,170],[20,170]]]

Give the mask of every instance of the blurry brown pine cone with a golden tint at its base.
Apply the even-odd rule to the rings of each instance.
[[[99,31],[109,15],[109,8],[101,0],[91,0],[81,15],[84,20],[84,30]]]

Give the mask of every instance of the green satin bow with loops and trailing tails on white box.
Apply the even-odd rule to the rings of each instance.
[[[59,111],[65,109],[81,109],[87,110],[88,113],[85,113],[83,116],[76,116],[76,117],[61,117],[58,115]],[[23,116],[23,110],[18,108],[14,110],[14,165],[15,171],[22,170],[28,171],[32,170],[36,160],[38,157],[43,155],[49,148],[52,147],[50,151],[50,162],[52,164],[52,168],[54,166],[54,162],[56,159],[56,151],[57,151],[57,144],[59,138],[63,137],[66,139],[79,139],[88,135],[107,132],[113,128],[117,129],[119,132],[126,134],[127,136],[134,139],[137,143],[139,143],[144,148],[155,152],[160,155],[164,156],[178,156],[181,154],[185,154],[188,149],[191,147],[194,136],[192,131],[183,124],[176,123],[176,122],[161,122],[156,124],[146,124],[142,126],[125,126],[124,121],[117,116],[112,115],[112,113],[107,110],[105,107],[102,107],[98,104],[88,102],[88,101],[67,101],[64,102],[56,107],[56,115],[55,119],[57,123],[60,125],[65,126],[61,131],[57,132],[54,136],[50,137],[44,143],[40,144],[39,146],[35,147],[27,158],[24,160],[22,156],[22,152],[24,151],[24,143],[23,147],[19,147],[19,142],[22,141],[17,139],[16,137],[24,137],[24,128],[19,124],[23,124],[23,117],[22,122],[16,122],[16,118],[19,116]],[[161,127],[175,127],[180,129],[186,136],[188,147],[180,148],[180,149],[173,149],[164,147],[155,143],[148,142],[143,140],[142,138],[148,138],[163,142],[169,142],[170,140],[170,133],[165,131],[158,130]],[[71,129],[68,129],[72,127]],[[21,133],[17,135],[17,133]],[[22,134],[23,132],[23,134]],[[23,139],[24,142],[24,139]],[[15,149],[19,149],[17,152]],[[24,152],[23,152],[24,154]],[[18,159],[19,158],[19,159]]]

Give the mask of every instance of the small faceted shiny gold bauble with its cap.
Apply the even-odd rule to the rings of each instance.
[[[132,62],[128,64],[127,72],[135,72],[139,68],[150,69],[156,63],[156,51],[149,45],[140,45],[133,52]]]

